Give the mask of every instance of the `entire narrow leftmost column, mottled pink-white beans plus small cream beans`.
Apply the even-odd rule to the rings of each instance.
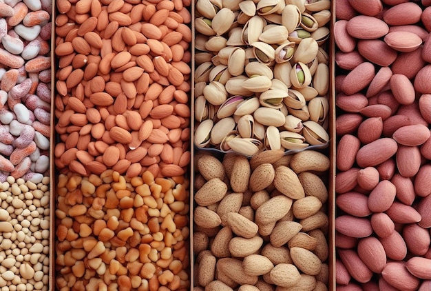
[[[48,290],[52,1],[0,3],[0,288]]]

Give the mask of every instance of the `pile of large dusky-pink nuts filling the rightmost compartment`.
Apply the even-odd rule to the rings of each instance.
[[[337,1],[337,290],[431,290],[428,6]]]

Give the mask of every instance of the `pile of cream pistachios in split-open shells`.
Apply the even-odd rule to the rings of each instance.
[[[326,145],[330,0],[197,0],[198,148]]]

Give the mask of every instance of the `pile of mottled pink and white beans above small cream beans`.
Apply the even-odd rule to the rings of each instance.
[[[48,176],[51,10],[46,0],[0,3],[1,183]]]

